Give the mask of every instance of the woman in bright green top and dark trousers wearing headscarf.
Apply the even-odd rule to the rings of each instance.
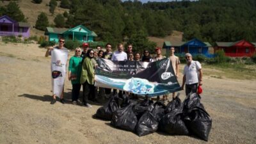
[[[77,104],[79,102],[79,92],[81,89],[80,76],[82,70],[82,60],[81,48],[77,47],[75,49],[75,55],[69,60],[68,66],[68,80],[72,83],[72,104]]]

